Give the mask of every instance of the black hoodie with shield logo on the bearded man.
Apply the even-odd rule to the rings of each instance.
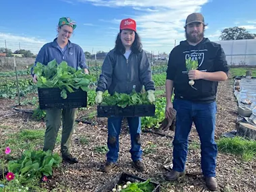
[[[189,77],[185,65],[185,59],[198,60],[198,70],[206,72],[224,71],[228,73],[226,55],[220,46],[203,38],[199,44],[193,46],[186,40],[181,41],[178,46],[170,52],[167,77],[174,82],[174,97],[191,100],[193,102],[210,103],[216,100],[218,82],[204,79],[195,80],[194,88],[189,86]]]

